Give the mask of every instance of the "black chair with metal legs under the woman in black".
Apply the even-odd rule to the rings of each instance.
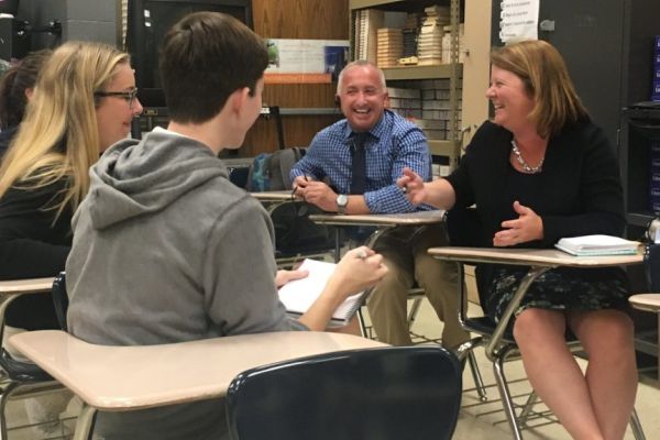
[[[447,215],[447,227],[452,246],[466,246],[477,248],[477,237],[481,230],[481,224],[476,210],[473,208],[459,209],[454,208]],[[459,266],[459,279],[464,278],[464,264],[458,262]],[[521,280],[519,289],[527,289],[531,283],[540,275],[542,271],[535,272],[530,271]],[[485,304],[483,293],[487,289],[487,286],[480,285],[477,278],[477,290],[480,294],[481,304]],[[504,364],[507,360],[519,355],[516,341],[514,339],[513,331],[509,329],[510,319],[507,319],[506,315],[499,322],[495,322],[488,316],[483,317],[469,317],[468,316],[468,292],[464,283],[459,283],[459,321],[463,328],[472,333],[476,333],[475,338],[463,343],[457,353],[460,359],[470,356],[474,349],[484,346],[486,358],[492,362],[493,372],[495,375],[495,382],[499,395],[502,398],[502,405],[512,429],[513,436],[517,440],[522,439],[521,430],[527,426],[527,422],[534,416],[534,405],[538,402],[538,396],[532,391],[524,405],[516,405],[512,397],[512,393],[508,387],[508,382],[504,372]],[[516,296],[512,300],[512,304],[516,302],[513,307],[516,308],[522,297],[519,297],[516,302]],[[512,306],[509,306],[512,307]],[[510,318],[510,317],[509,317]],[[580,351],[581,345],[579,341],[572,334],[566,336],[566,343],[570,345],[572,351]],[[469,358],[472,362],[472,358]],[[484,386],[481,377],[475,376],[476,391],[482,400],[486,400],[487,396],[485,393],[486,387]],[[518,410],[518,411],[517,411]],[[516,413],[517,411],[517,413]],[[630,417],[630,428],[636,440],[646,439],[637,411],[632,410]]]

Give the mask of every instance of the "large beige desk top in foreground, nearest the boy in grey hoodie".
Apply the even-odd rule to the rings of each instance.
[[[142,346],[96,345],[64,331],[10,338],[15,349],[100,410],[132,410],[222,397],[241,372],[341,350],[386,344],[341,333],[276,332]]]

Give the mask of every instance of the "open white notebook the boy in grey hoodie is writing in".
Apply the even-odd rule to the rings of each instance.
[[[286,311],[293,316],[300,316],[309,309],[314,301],[321,295],[326,283],[332,272],[334,263],[305,260],[299,268],[309,271],[306,278],[295,279],[279,288],[279,300]],[[366,299],[369,289],[348,297],[332,315],[332,321],[346,324]]]

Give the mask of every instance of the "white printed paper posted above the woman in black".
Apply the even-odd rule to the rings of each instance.
[[[538,40],[540,0],[503,0],[499,6],[499,40]]]

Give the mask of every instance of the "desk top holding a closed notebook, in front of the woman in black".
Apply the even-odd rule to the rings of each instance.
[[[635,255],[573,256],[556,249],[491,249],[491,248],[430,248],[429,253],[440,260],[469,263],[499,263],[521,266],[606,267],[640,264],[641,248]]]

